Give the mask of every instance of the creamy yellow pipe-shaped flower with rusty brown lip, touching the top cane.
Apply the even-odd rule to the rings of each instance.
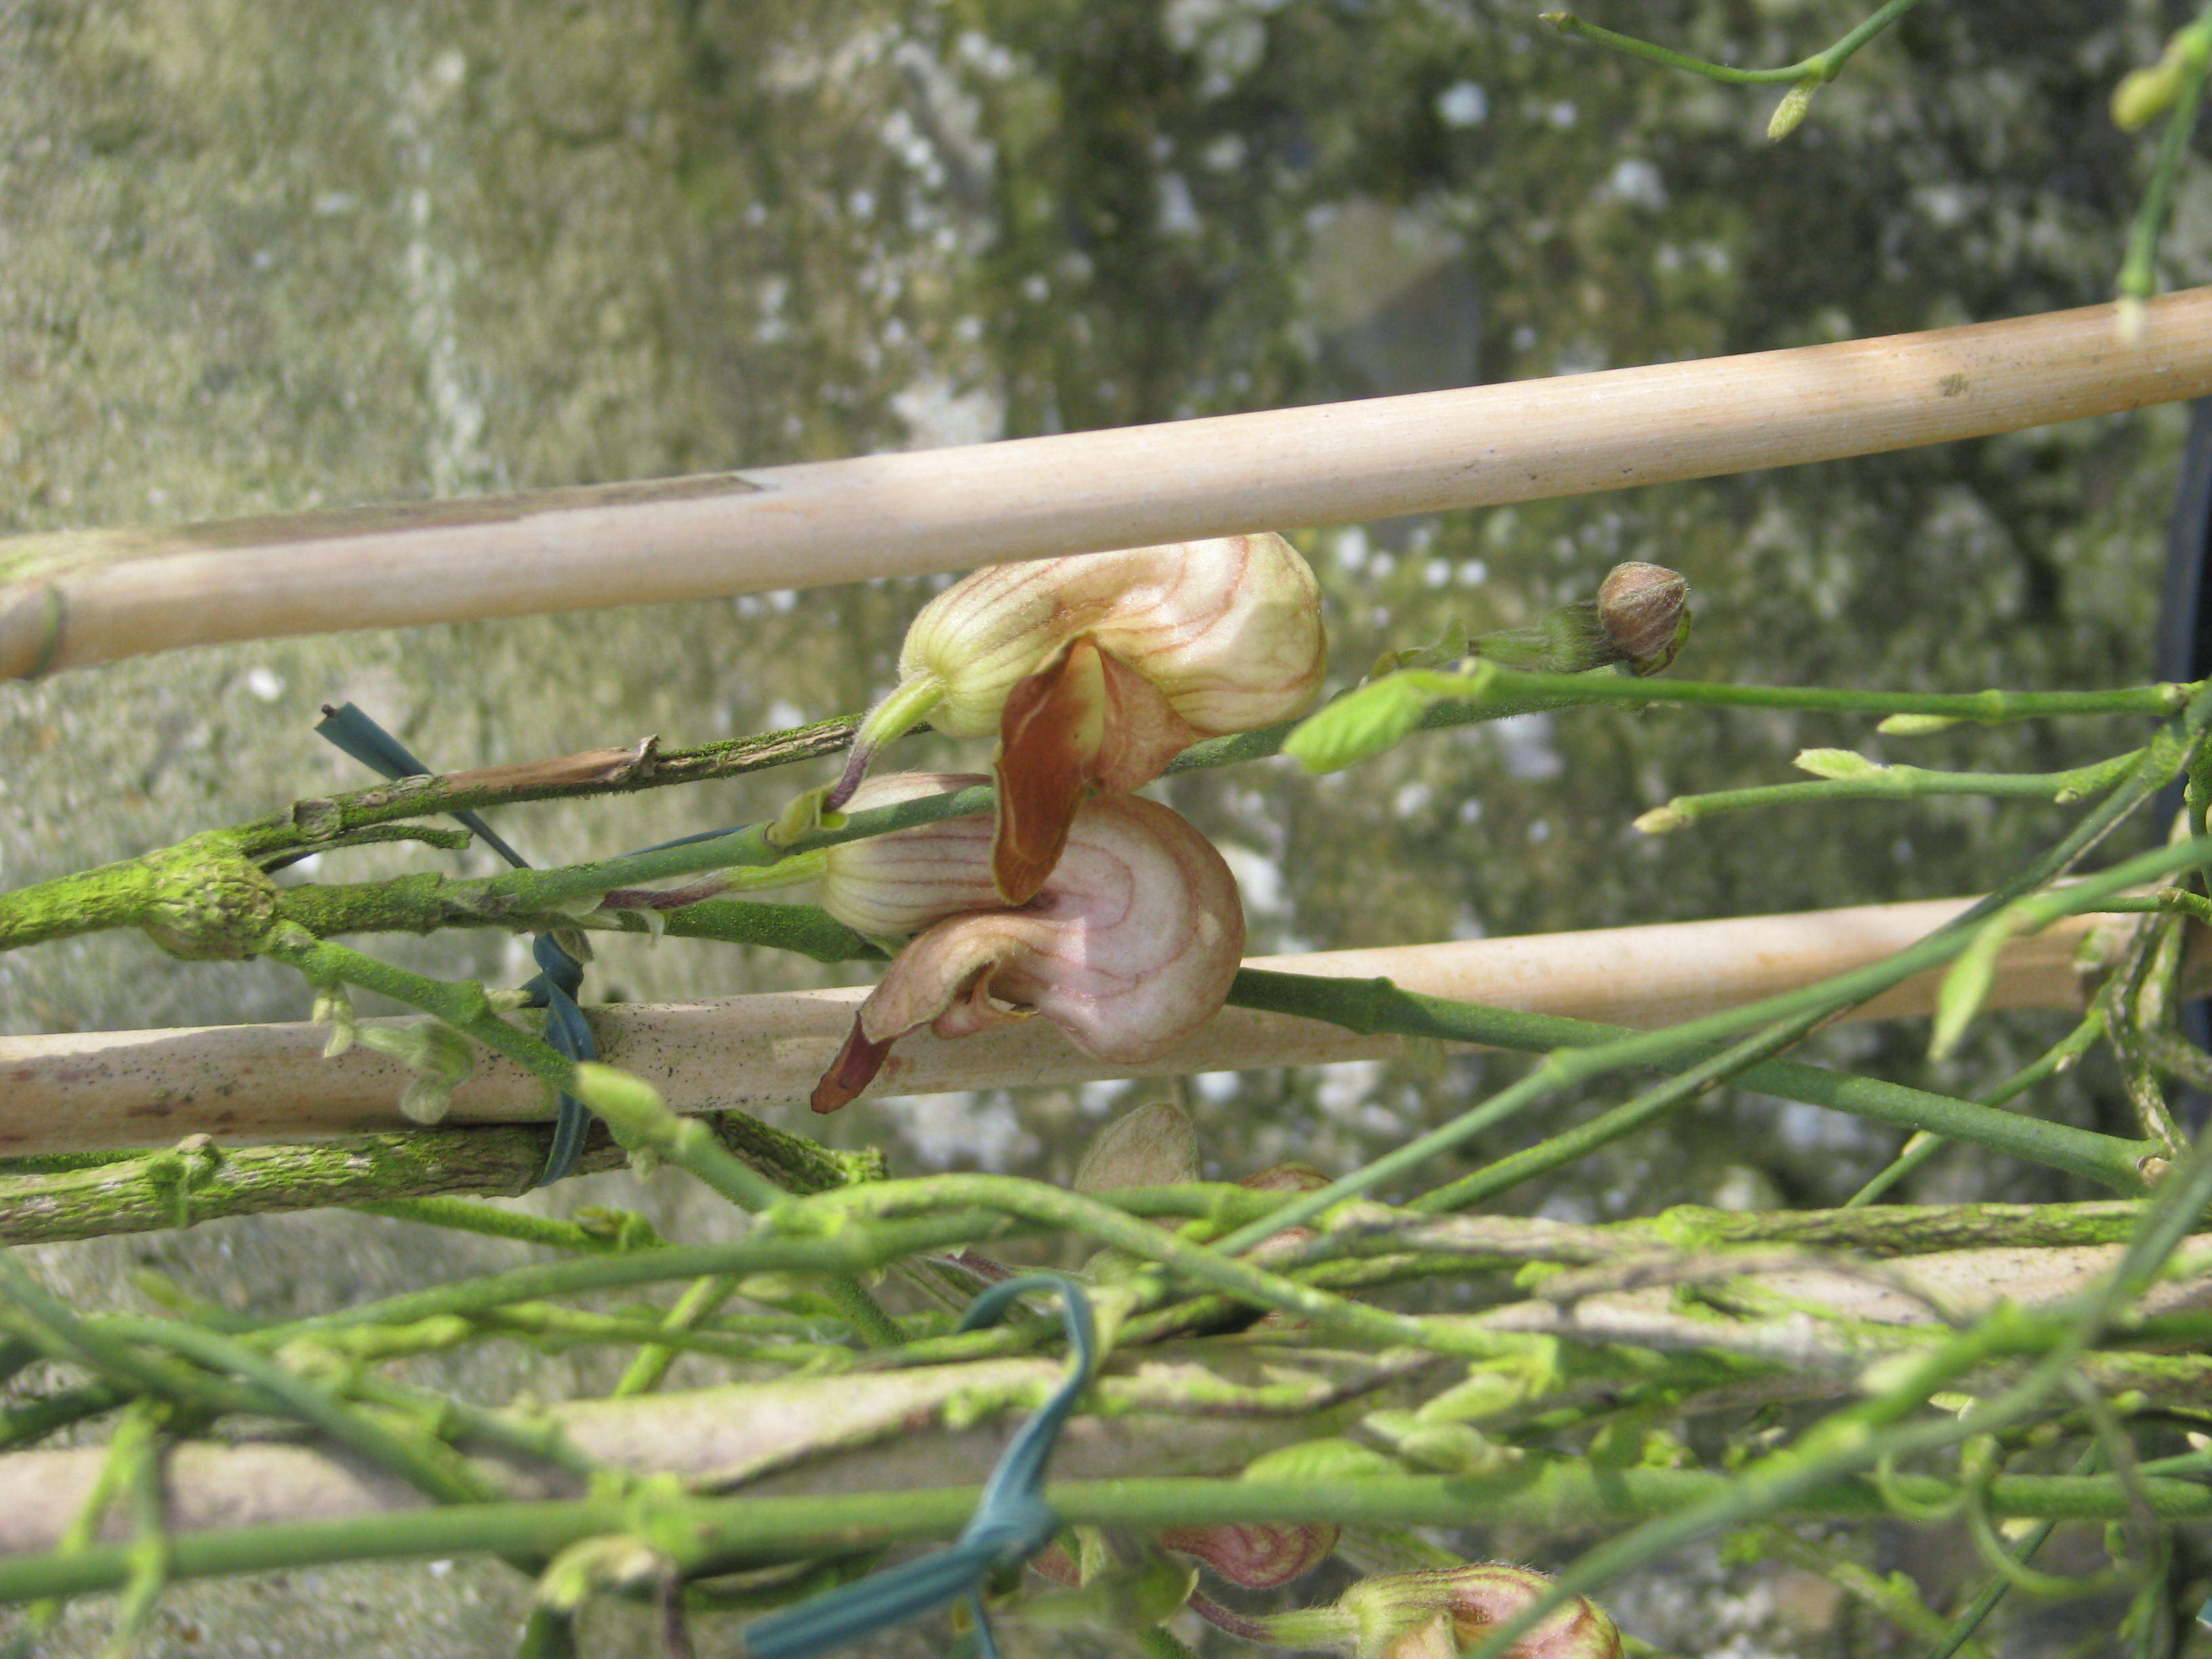
[[[900,684],[825,805],[914,721],[1000,734],[993,874],[1035,894],[1088,787],[1135,790],[1201,737],[1298,714],[1321,686],[1321,588],[1281,535],[993,564],[907,628]]]

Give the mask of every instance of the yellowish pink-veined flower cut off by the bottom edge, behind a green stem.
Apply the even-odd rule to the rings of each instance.
[[[1352,1615],[1358,1659],[1458,1659],[1486,1630],[1517,1617],[1551,1590],[1524,1566],[1427,1568],[1360,1579],[1336,1601]],[[1577,1595],[1522,1635],[1504,1659],[1619,1659],[1621,1632]]]

